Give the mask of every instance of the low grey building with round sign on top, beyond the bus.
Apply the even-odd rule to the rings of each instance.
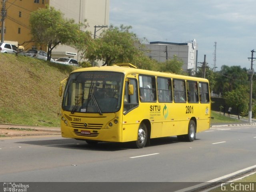
[[[198,45],[195,39],[187,43],[150,42],[146,48],[149,50],[147,55],[158,62],[165,62],[176,55],[183,61],[184,72],[196,71]]]

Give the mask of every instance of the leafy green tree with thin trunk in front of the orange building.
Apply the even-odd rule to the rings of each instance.
[[[82,32],[85,23],[76,24],[73,19],[65,19],[64,14],[53,7],[40,8],[30,15],[30,27],[33,40],[48,46],[47,60],[52,50],[59,44],[75,45],[81,39],[89,38],[89,32]]]

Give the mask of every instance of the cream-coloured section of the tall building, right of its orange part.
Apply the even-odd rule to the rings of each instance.
[[[72,18],[75,22],[87,20],[89,30],[94,37],[99,36],[102,30],[98,26],[108,26],[109,21],[109,0],[49,0],[50,6],[60,10],[66,18]],[[96,26],[96,28],[94,28]],[[80,61],[76,49],[61,45],[52,51],[52,58],[70,57]]]

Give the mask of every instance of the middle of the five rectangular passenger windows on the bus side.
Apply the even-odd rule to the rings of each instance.
[[[180,79],[173,80],[173,92],[174,92],[174,102],[176,103],[186,103],[186,86],[185,81]]]

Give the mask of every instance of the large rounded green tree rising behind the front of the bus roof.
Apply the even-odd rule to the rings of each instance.
[[[114,63],[134,63],[138,56],[142,56],[140,49],[143,45],[136,34],[129,32],[131,28],[124,25],[120,28],[109,26],[102,32],[100,38],[89,42],[87,48],[84,48],[84,58],[90,61],[103,60],[103,66]]]

